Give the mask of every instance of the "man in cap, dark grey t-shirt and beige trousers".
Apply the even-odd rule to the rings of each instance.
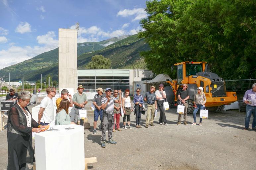
[[[155,91],[155,86],[152,85],[150,86],[150,91],[146,92],[144,96],[144,100],[147,101],[148,103],[148,109],[147,109],[147,118],[146,118],[146,128],[154,125],[154,118],[155,118],[155,111],[157,109],[157,97],[156,94],[154,93]],[[151,116],[150,120],[149,117]]]

